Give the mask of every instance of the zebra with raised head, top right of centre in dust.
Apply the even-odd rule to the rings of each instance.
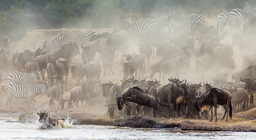
[[[189,16],[183,16],[182,13],[175,7],[172,7],[169,10],[170,12],[168,15],[168,19],[173,19],[174,21],[173,23],[175,23],[175,26],[179,31],[190,29],[191,23],[198,23],[198,22],[205,23],[205,20],[201,14],[192,14]]]

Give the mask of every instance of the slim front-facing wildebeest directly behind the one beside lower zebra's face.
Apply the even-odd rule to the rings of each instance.
[[[65,58],[59,58],[57,61],[56,61],[56,73],[57,73],[57,76],[56,76],[56,79],[58,81],[61,81],[62,82],[62,85],[64,83],[63,81],[63,75],[66,77],[66,88],[65,90],[67,90],[67,76],[68,76],[68,71],[69,71],[69,63],[71,63],[71,59],[65,59]]]

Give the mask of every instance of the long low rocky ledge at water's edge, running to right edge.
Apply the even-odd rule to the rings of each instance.
[[[119,127],[146,127],[146,128],[180,128],[181,130],[205,130],[205,131],[250,131],[256,132],[251,126],[219,126],[213,122],[203,123],[198,121],[183,120],[181,123],[175,121],[163,121],[157,118],[146,118],[140,116],[124,116],[114,120],[114,125]]]

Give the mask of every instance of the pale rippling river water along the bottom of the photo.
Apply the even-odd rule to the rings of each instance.
[[[19,123],[19,113],[0,113],[0,140],[255,140],[255,132],[229,131],[182,131],[174,129],[148,129],[113,127],[101,125],[72,125],[65,127],[40,128],[42,124]],[[39,118],[39,117],[38,117]]]

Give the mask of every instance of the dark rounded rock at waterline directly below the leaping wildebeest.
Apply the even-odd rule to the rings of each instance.
[[[119,127],[140,127],[140,128],[180,128],[180,125],[162,123],[155,118],[146,118],[141,116],[124,116],[114,120],[114,125]]]

